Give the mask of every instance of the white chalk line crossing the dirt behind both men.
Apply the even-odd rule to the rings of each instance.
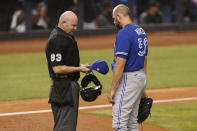
[[[182,101],[191,101],[191,100],[197,100],[197,97],[154,100],[153,103],[182,102]],[[79,107],[79,110],[98,109],[98,108],[107,108],[107,107],[112,107],[112,105],[111,104],[106,104],[106,105],[84,106],[84,107]],[[14,116],[14,115],[25,115],[25,114],[47,113],[47,112],[51,112],[51,110],[37,110],[37,111],[26,111],[26,112],[0,113],[0,116]]]

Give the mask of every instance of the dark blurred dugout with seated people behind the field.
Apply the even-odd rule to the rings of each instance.
[[[197,0],[1,0],[0,39],[46,37],[66,10],[79,17],[76,35],[112,33],[121,3],[147,32],[197,29]]]

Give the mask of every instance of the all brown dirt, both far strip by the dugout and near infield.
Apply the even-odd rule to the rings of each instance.
[[[197,31],[149,33],[149,46],[170,46],[197,44]],[[77,37],[79,49],[113,48],[115,35]],[[47,39],[0,40],[0,54],[44,52]],[[196,97],[197,87],[148,90],[148,96],[154,100]],[[0,114],[50,109],[48,98],[0,102]],[[174,102],[170,102],[174,103]],[[92,103],[80,99],[80,107],[105,105],[106,94],[102,94]],[[157,103],[159,104],[159,103]],[[154,104],[154,105],[157,105]],[[165,103],[163,103],[165,104]],[[169,104],[169,103],[168,103]],[[111,131],[111,117],[87,114],[89,111],[111,109],[87,109],[79,111],[77,131]],[[13,116],[0,116],[0,131],[52,131],[52,113],[36,113]],[[140,127],[141,128],[141,127]],[[143,125],[144,131],[166,131],[162,127]]]

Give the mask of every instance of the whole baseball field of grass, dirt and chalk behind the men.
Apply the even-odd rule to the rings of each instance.
[[[147,94],[154,104],[143,131],[197,130],[196,36],[197,31],[148,33]],[[76,40],[81,63],[102,59],[110,67],[115,34]],[[0,40],[0,131],[52,131],[46,41]],[[112,130],[111,105],[106,98],[112,72],[94,73],[104,86],[103,93],[91,103],[80,99],[77,131]]]

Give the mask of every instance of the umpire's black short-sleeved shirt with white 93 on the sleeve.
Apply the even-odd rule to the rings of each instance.
[[[55,74],[52,66],[66,65],[78,67],[80,58],[77,42],[74,36],[64,32],[59,27],[55,27],[50,34],[46,45],[46,57],[48,62],[48,70],[52,79],[68,77],[77,81],[80,77],[79,72],[70,74]]]

